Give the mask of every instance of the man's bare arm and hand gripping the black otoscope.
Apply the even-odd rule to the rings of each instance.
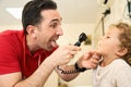
[[[70,62],[79,50],[80,48],[74,46],[59,47],[25,79],[22,79],[21,73],[0,75],[0,87],[43,87],[55,67]]]

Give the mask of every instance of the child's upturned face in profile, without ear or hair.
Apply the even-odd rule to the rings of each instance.
[[[105,36],[98,41],[98,52],[102,55],[116,54],[120,49],[120,41],[118,36],[120,30],[116,27],[110,27]]]

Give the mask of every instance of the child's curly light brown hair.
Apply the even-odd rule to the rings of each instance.
[[[121,32],[118,38],[121,46],[128,49],[128,53],[122,59],[131,66],[131,26],[127,23],[119,23],[111,26],[117,27]]]

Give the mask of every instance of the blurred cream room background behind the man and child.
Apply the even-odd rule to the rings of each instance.
[[[21,12],[29,0],[0,0],[0,32],[22,29]],[[55,0],[62,16],[63,36],[59,45],[74,44],[81,33],[90,42],[82,44],[82,51],[69,63],[73,64],[85,51],[95,49],[97,40],[112,23],[131,24],[131,0]],[[92,70],[71,82],[63,82],[53,72],[45,87],[92,87]]]

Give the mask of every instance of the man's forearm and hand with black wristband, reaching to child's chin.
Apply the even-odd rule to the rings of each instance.
[[[69,82],[74,79],[85,69],[95,69],[99,62],[99,55],[96,51],[88,51],[84,53],[74,65],[60,65],[56,67],[59,76]]]

